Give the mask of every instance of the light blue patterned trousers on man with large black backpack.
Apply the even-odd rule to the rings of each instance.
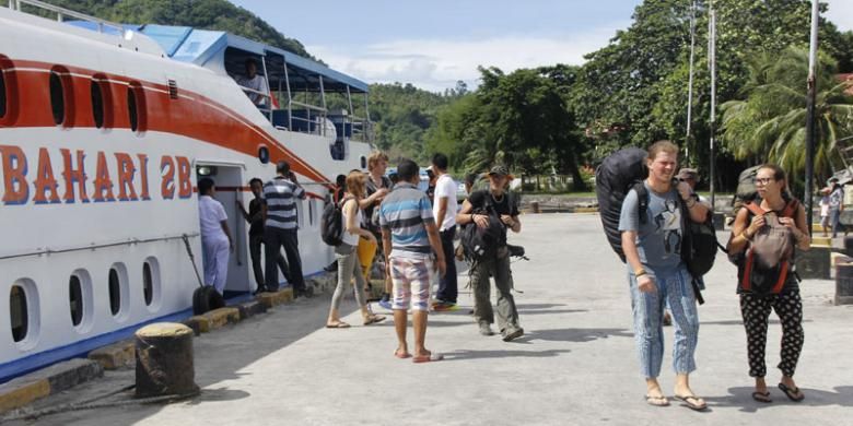
[[[648,269],[646,268],[648,271]],[[641,293],[636,277],[628,273],[631,286],[631,310],[634,316],[634,340],[640,356],[640,370],[645,378],[661,375],[664,360],[664,306],[669,308],[675,326],[673,369],[689,374],[696,369],[696,346],[699,336],[699,312],[691,276],[681,265],[671,271],[648,271],[655,279],[655,292]]]

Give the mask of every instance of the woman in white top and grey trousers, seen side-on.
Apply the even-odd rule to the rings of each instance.
[[[362,171],[352,170],[347,176],[347,194],[340,202],[343,203],[341,208],[343,221],[343,235],[341,235],[341,245],[335,248],[335,257],[338,259],[338,286],[335,288],[335,294],[331,296],[331,308],[329,309],[329,318],[326,320],[326,328],[329,329],[344,329],[350,324],[340,320],[340,301],[343,299],[343,288],[350,285],[353,276],[355,277],[355,301],[361,307],[361,316],[364,324],[372,324],[379,322],[385,317],[374,315],[367,308],[366,298],[364,297],[364,275],[361,274],[361,263],[359,262],[359,255],[355,251],[355,247],[359,246],[359,238],[365,238],[372,244],[376,244],[376,237],[369,230],[362,229],[362,214],[359,208],[359,202],[364,198],[364,187],[366,185],[366,177]]]

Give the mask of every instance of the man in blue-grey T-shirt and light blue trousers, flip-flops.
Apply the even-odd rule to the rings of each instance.
[[[634,340],[641,372],[646,382],[646,402],[665,406],[657,377],[664,360],[664,306],[668,305],[675,324],[673,369],[676,372],[675,398],[692,410],[708,404],[690,389],[689,375],[696,369],[699,341],[699,313],[691,286],[692,276],[681,260],[681,209],[687,205],[690,220],[702,222],[708,208],[697,201],[687,182],[673,185],[678,165],[678,146],[669,141],[655,142],[648,149],[648,177],[645,217],[640,217],[639,194],[631,190],[622,203],[619,230],[628,263],[628,282],[634,322]]]

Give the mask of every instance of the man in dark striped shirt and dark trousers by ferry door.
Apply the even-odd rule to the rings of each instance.
[[[305,190],[296,181],[296,175],[290,170],[288,162],[279,162],[276,165],[277,176],[264,185],[265,200],[265,252],[266,252],[266,288],[261,292],[274,292],[279,288],[279,271],[276,269],[276,259],[284,246],[290,265],[290,283],[293,288],[293,297],[311,297],[313,292],[305,286],[302,275],[302,259],[299,251],[296,232],[296,199],[305,199]]]

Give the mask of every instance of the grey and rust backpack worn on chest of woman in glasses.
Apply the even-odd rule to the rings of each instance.
[[[767,212],[759,203],[744,204],[749,209],[748,222],[755,215],[763,215],[766,225],[759,229],[746,252],[738,259],[738,283],[740,289],[757,294],[779,294],[794,272],[796,244],[791,228],[779,223],[779,217],[795,217],[799,201],[792,199],[781,214]]]

